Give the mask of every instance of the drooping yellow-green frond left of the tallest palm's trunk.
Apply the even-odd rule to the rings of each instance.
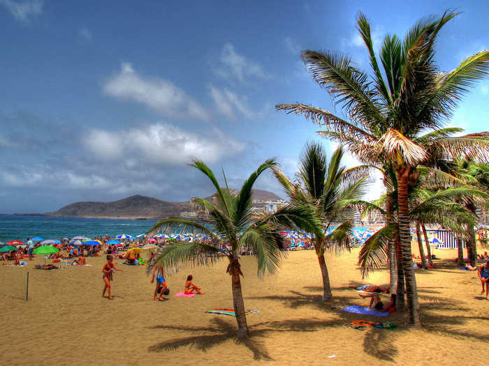
[[[397,224],[388,224],[370,236],[358,253],[358,266],[362,277],[386,263],[388,259],[388,243],[395,236]]]

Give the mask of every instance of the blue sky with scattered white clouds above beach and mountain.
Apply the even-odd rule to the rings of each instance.
[[[304,49],[345,52],[368,70],[356,15],[374,47],[425,15],[456,8],[442,29],[442,71],[489,49],[488,1],[0,0],[0,213],[56,211],[75,201],[206,197],[189,167],[203,160],[231,188],[268,158],[293,176],[306,142],[335,144],[303,117],[304,102],[341,114],[312,81]],[[488,130],[489,79],[449,125]],[[346,166],[356,160],[346,156]],[[381,194],[372,180],[367,199]],[[255,188],[285,197],[271,174]]]

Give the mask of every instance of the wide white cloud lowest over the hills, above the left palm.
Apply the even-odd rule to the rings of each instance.
[[[225,136],[220,130],[211,132],[212,137],[205,137],[173,125],[154,123],[118,132],[91,130],[83,142],[100,160],[140,159],[163,165],[182,165],[194,157],[216,162],[245,148],[245,144]]]

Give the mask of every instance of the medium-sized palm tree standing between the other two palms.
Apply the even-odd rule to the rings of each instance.
[[[356,205],[362,203],[360,198],[365,193],[365,178],[346,183],[347,177],[355,169],[347,170],[342,167],[342,156],[342,148],[337,148],[328,162],[323,147],[313,142],[305,146],[300,158],[298,182],[293,183],[281,171],[273,169],[291,202],[300,206],[309,206],[316,218],[323,222],[324,231],[311,232],[316,234],[312,238],[312,243],[323,278],[323,301],[333,299],[328,266],[324,259],[325,250],[331,249],[336,252],[342,249],[349,250],[352,224],[348,220],[348,208],[353,202]],[[339,223],[339,226],[327,234],[333,223]]]

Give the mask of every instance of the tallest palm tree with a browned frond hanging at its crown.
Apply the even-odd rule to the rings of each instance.
[[[468,88],[489,74],[489,51],[470,56],[449,73],[437,70],[435,41],[444,24],[456,15],[446,12],[441,17],[423,18],[410,29],[404,40],[395,35],[386,36],[379,52],[384,73],[374,52],[370,24],[361,13],[357,19],[358,31],[367,46],[372,73],[358,70],[344,54],[302,52],[302,59],[313,79],[342,105],[348,121],[325,109],[305,104],[277,105],[277,109],[302,114],[327,126],[329,130],[323,131],[323,135],[342,141],[361,162],[376,164],[384,159],[395,169],[398,232],[409,323],[413,326],[421,326],[408,207],[409,186],[418,178],[416,166],[429,164],[437,155],[479,157],[481,146],[486,148],[483,153],[486,158],[488,155],[487,137],[446,137],[437,132],[451,118]],[[424,130],[432,131],[426,147],[413,141]]]

